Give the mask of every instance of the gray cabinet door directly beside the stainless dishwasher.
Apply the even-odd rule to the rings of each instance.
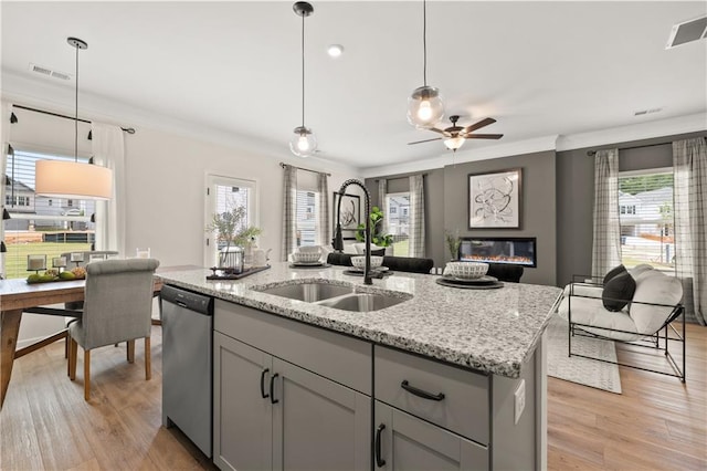
[[[272,406],[263,395],[272,357],[218,332],[213,345],[213,462],[222,470],[270,470]]]

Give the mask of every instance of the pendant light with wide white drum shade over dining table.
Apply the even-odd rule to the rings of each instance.
[[[113,171],[78,161],[78,50],[87,49],[88,44],[77,38],[67,38],[66,42],[76,49],[74,161],[38,160],[34,191],[39,196],[54,198],[107,200],[113,195]]]

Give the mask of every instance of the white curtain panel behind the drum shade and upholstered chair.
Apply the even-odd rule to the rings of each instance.
[[[94,165],[113,170],[113,197],[96,201],[96,250],[125,251],[125,137],[119,126],[91,124],[91,147]]]

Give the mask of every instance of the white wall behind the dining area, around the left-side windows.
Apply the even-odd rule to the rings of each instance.
[[[46,106],[33,103],[27,105],[46,109]],[[66,109],[52,111],[73,115]],[[74,125],[71,121],[19,109],[15,114],[19,123],[11,125],[10,142],[17,148],[73,155]],[[81,116],[92,118],[84,113]],[[130,123],[122,118],[108,122]],[[283,169],[279,163],[331,172],[330,199],[331,192],[338,190],[344,180],[359,177],[355,170],[340,165],[296,158],[289,154],[287,143],[283,143],[282,155],[274,156],[272,153],[258,154],[252,145],[250,150],[244,150],[165,129],[130,125],[137,132],[125,135],[126,255],[131,257],[138,247],[149,247],[151,255],[159,259],[162,266],[203,265],[207,172],[257,181],[257,224],[263,229],[258,244],[264,249],[272,248],[271,260],[275,261],[281,257],[283,230]],[[91,143],[86,139],[88,129],[87,124],[80,124],[80,155],[91,154]],[[354,187],[347,191],[356,192]],[[331,211],[331,202],[328,210]],[[61,317],[25,314],[19,344],[23,346],[29,339],[53,334],[63,326]]]

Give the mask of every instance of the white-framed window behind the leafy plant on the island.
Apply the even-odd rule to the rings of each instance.
[[[245,208],[244,227],[257,226],[257,192],[255,181],[209,175],[207,177],[207,185],[204,227],[212,221],[214,213],[229,212],[238,207]],[[214,233],[208,233],[205,241],[204,263],[207,266],[217,266],[218,251],[225,247],[225,242],[218,241],[217,234]]]

